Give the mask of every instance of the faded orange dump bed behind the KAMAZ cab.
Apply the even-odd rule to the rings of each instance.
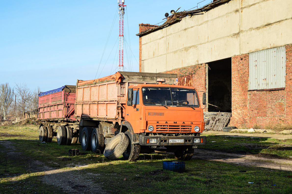
[[[119,71],[95,80],[77,80],[75,118],[121,121],[125,118],[126,91],[129,85],[157,83],[157,78],[175,84],[177,74],[156,74]]]

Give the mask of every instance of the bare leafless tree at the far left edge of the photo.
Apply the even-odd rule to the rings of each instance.
[[[13,101],[14,90],[11,89],[8,83],[2,83],[0,85],[0,102],[1,102],[1,113],[3,114],[4,120],[6,120],[6,116]]]

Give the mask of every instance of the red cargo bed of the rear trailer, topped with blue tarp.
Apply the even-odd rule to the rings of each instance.
[[[75,121],[76,86],[64,85],[61,88],[39,93],[39,120]]]

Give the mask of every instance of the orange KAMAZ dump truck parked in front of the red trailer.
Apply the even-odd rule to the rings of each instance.
[[[203,109],[197,90],[175,85],[176,78],[176,74],[117,72],[77,81],[75,118],[80,122],[82,148],[103,152],[107,145],[104,153],[112,160],[121,154],[135,160],[140,153],[154,151],[174,152],[177,159],[190,160],[194,148],[206,144],[206,137],[200,136]],[[109,145],[119,133],[130,143]],[[126,146],[126,151],[118,146]]]

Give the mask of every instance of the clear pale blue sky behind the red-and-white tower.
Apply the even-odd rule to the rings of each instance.
[[[166,12],[188,10],[200,1],[125,0],[125,71],[139,71],[138,24],[155,25]],[[0,83],[48,91],[113,74],[118,70],[117,12],[117,0],[0,0]]]

